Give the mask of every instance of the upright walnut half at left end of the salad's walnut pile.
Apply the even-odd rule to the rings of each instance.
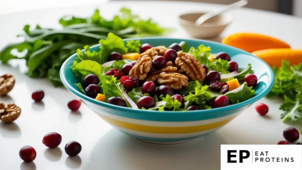
[[[152,60],[150,57],[143,58],[138,60],[137,63],[132,67],[129,72],[129,76],[144,80],[147,77],[147,73],[149,73],[152,68]]]

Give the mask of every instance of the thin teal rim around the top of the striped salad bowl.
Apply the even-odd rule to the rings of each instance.
[[[246,101],[241,102],[241,103],[236,103],[236,104],[232,104],[232,105],[229,105],[229,106],[224,106],[224,107],[220,107],[220,108],[213,108],[213,109],[208,109],[208,110],[192,110],[192,111],[186,112],[186,114],[193,114],[193,113],[194,114],[196,114],[196,113],[217,113],[217,112],[235,110],[235,109],[241,108],[243,106],[252,104],[252,103],[260,100],[262,97],[264,97],[265,95],[267,95],[270,92],[271,88],[274,85],[275,75],[274,75],[274,72],[271,69],[271,67],[267,63],[265,63],[265,61],[263,61],[262,59],[260,59],[260,58],[258,58],[256,56],[252,55],[251,53],[249,53],[247,51],[241,50],[241,49],[236,48],[236,47],[232,47],[232,46],[229,46],[229,45],[217,43],[217,42],[214,42],[214,41],[207,41],[207,40],[200,40],[200,39],[182,39],[182,38],[165,38],[165,37],[127,38],[127,39],[123,39],[123,41],[128,41],[128,40],[146,40],[146,39],[171,39],[171,40],[175,40],[175,42],[194,40],[194,41],[204,41],[204,42],[208,42],[208,43],[212,43],[212,44],[223,45],[223,46],[227,46],[229,48],[233,48],[234,50],[241,51],[243,54],[248,54],[251,57],[255,57],[258,60],[260,60],[261,62],[263,62],[268,67],[268,69],[269,69],[269,71],[271,73],[271,80],[270,80],[267,88],[265,90],[263,90],[259,95],[254,96],[251,99],[246,100]],[[98,46],[100,46],[100,44],[93,45],[90,48],[98,47]],[[85,51],[85,50],[83,49],[82,51]],[[90,98],[90,97],[84,95],[83,93],[80,93],[78,90],[74,89],[67,82],[67,80],[66,80],[66,78],[64,76],[64,70],[65,70],[64,68],[66,67],[67,62],[70,60],[70,58],[75,57],[75,56],[77,56],[77,53],[73,54],[70,57],[68,57],[65,60],[65,62],[62,64],[61,69],[60,69],[60,78],[62,80],[63,85],[69,91],[71,91],[72,93],[74,93],[76,96],[78,96],[78,97],[80,97],[80,98],[82,98],[84,100],[87,100],[87,101],[89,101],[91,103],[94,103],[94,104],[97,104],[97,105],[101,105],[101,106],[104,106],[104,107],[108,107],[108,108],[112,108],[112,109],[116,109],[116,110],[120,110],[120,111],[127,111],[127,112],[134,112],[134,113],[142,113],[143,112],[143,113],[162,113],[162,114],[164,114],[164,113],[166,113],[166,114],[183,114],[184,113],[184,111],[164,111],[164,112],[161,112],[161,111],[157,111],[157,110],[132,109],[130,107],[117,106],[117,105],[113,105],[113,104],[110,104],[110,103],[101,102],[101,101],[95,100],[93,98]]]

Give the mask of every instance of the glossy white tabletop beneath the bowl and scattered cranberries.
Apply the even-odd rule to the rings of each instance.
[[[88,16],[95,8],[100,8],[103,15],[110,17],[122,6],[130,7],[144,18],[152,16],[162,25],[176,28],[177,31],[170,36],[178,38],[190,38],[177,23],[180,13],[218,7],[189,2],[122,1],[4,14],[0,15],[0,47],[15,41],[15,35],[25,24],[59,27],[58,19],[63,15]],[[293,48],[302,48],[301,18],[251,9],[236,10],[232,15],[234,21],[221,37],[237,31],[252,31],[278,37]],[[175,145],[146,143],[111,128],[85,104],[78,112],[70,112],[67,102],[76,98],[74,95],[64,87],[54,88],[47,79],[27,77],[25,70],[24,62],[0,65],[0,74],[10,73],[16,78],[14,89],[8,96],[0,97],[0,101],[16,103],[22,109],[21,116],[14,123],[0,123],[1,170],[216,170],[220,169],[221,144],[276,144],[284,140],[282,132],[290,126],[280,119],[278,107],[282,100],[263,98],[259,102],[269,106],[265,117],[256,113],[254,103],[231,123],[204,138]],[[45,92],[41,103],[34,103],[31,99],[31,93],[37,89]],[[42,144],[42,138],[48,132],[62,135],[58,148],[47,149]],[[82,152],[73,158],[68,157],[64,150],[65,144],[71,140],[82,145]],[[37,157],[34,162],[24,163],[19,158],[19,149],[24,145],[35,148]]]

